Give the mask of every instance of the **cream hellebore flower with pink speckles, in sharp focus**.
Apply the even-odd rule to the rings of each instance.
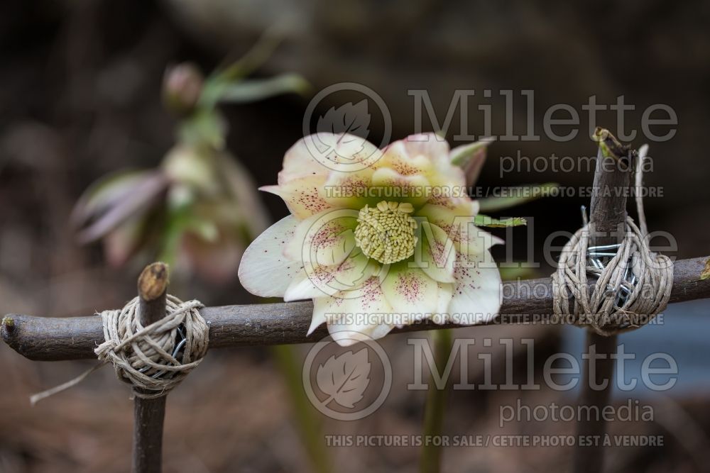
[[[313,299],[309,335],[327,323],[341,345],[425,319],[490,320],[501,277],[488,249],[502,240],[474,226],[479,205],[454,164],[462,148],[433,134],[383,150],[346,134],[299,140],[278,185],[261,188],[291,215],[246,250],[241,283],[258,296]]]

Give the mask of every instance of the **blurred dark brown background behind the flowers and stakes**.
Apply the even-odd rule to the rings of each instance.
[[[141,264],[109,269],[98,245],[77,245],[67,225],[73,204],[102,174],[121,167],[155,166],[170,148],[175,123],[160,104],[160,82],[167,65],[191,60],[210,70],[226,55],[239,57],[276,23],[283,23],[285,40],[259,74],[300,72],[315,90],[335,82],[366,84],[388,104],[393,139],[413,131],[408,89],[427,89],[440,119],[454,89],[493,89],[494,97],[498,90],[513,89],[515,126],[520,133],[525,130],[526,113],[520,89],[535,91],[539,134],[542,114],[551,104],[572,104],[584,126],[579,107],[595,94],[600,104],[613,104],[622,94],[627,104],[635,104],[636,110],[627,113],[627,128],[633,126],[639,134],[643,109],[657,103],[670,105],[678,116],[678,132],[666,143],[652,143],[655,167],[645,180],[650,186],[662,186],[664,197],[647,199],[648,221],[652,229],[670,231],[677,238],[678,257],[706,255],[710,248],[710,223],[705,218],[710,205],[706,191],[710,161],[704,143],[710,128],[709,21],[707,1],[4,1],[0,4],[0,313],[84,315],[121,306],[134,295]],[[474,133],[481,126],[481,116],[473,113],[475,104],[474,100],[469,123]],[[493,104],[494,111],[504,108],[500,96]],[[300,138],[306,105],[307,99],[280,96],[224,108],[231,127],[229,149],[258,184],[275,182],[283,152]],[[599,124],[611,130],[615,120],[611,112],[599,113]],[[494,119],[494,134],[503,134],[503,126],[502,116]],[[373,130],[378,133],[382,130]],[[518,173],[501,179],[499,158],[515,156],[518,150],[530,157],[552,152],[585,156],[594,152],[594,145],[584,128],[569,143],[555,143],[544,135],[535,143],[496,143],[479,184],[591,182],[591,172]],[[280,199],[263,199],[273,218],[285,215]],[[579,205],[585,200],[545,199],[514,213],[535,219],[532,231],[541,244],[553,230],[577,228]],[[530,256],[525,231],[516,229],[509,240],[520,260]],[[537,253],[532,257],[540,260]],[[540,270],[547,272],[549,268]],[[209,305],[251,301],[236,278],[214,286],[195,277],[182,282],[180,289],[186,293],[181,296]],[[706,306],[697,312],[706,314]],[[497,337],[510,335],[511,329],[474,332]],[[474,332],[462,329],[457,335]],[[515,328],[512,333],[535,337],[540,359],[562,346],[556,330]],[[405,338],[391,337],[383,345],[395,372],[410,370],[412,357]],[[523,355],[516,357],[521,366]],[[498,358],[494,355],[494,359]],[[1,472],[126,471],[132,405],[128,389],[116,382],[111,369],[104,368],[72,391],[30,408],[28,394],[64,382],[90,363],[28,362],[3,345],[0,365]],[[662,419],[650,425],[614,424],[613,432],[665,433],[667,445],[615,450],[608,471],[704,471],[707,462],[702,460],[710,451],[706,448],[710,418],[702,402],[707,393],[689,389],[672,401],[653,399],[659,413],[682,406],[697,421],[694,432],[699,434],[691,445],[674,433],[683,430],[674,414],[667,414],[665,420],[659,414]],[[515,396],[518,393],[454,392],[447,433],[501,433],[498,405]],[[556,394],[532,396],[550,402]],[[324,433],[418,433],[424,398],[422,392],[395,385],[376,415],[360,423],[329,421]],[[534,402],[530,399],[530,404]],[[310,471],[290,419],[288,396],[268,350],[211,352],[170,396],[165,469]],[[536,423],[509,429],[571,433],[573,425]],[[566,469],[571,453],[569,449],[449,449],[444,469]],[[418,452],[405,447],[344,448],[334,449],[332,455],[338,471],[415,471]]]

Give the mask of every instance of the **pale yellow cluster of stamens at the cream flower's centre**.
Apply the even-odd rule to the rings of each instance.
[[[386,265],[414,254],[417,221],[410,217],[412,204],[381,201],[375,207],[360,209],[355,228],[355,243],[367,256]]]

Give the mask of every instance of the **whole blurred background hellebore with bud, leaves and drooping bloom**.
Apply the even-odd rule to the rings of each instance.
[[[307,91],[295,74],[244,79],[277,42],[265,35],[207,79],[190,63],[167,69],[163,104],[178,118],[177,143],[157,169],[121,170],[87,189],[72,213],[81,243],[102,240],[116,267],[136,257],[168,262],[181,277],[234,277],[244,248],[268,226],[268,213],[253,179],[226,150],[229,126],[217,105]]]

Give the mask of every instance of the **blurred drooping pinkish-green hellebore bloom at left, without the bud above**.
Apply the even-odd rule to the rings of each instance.
[[[77,202],[81,243],[102,240],[109,264],[145,253],[222,284],[251,235],[268,226],[253,180],[226,151],[175,145],[157,169],[109,174]]]

